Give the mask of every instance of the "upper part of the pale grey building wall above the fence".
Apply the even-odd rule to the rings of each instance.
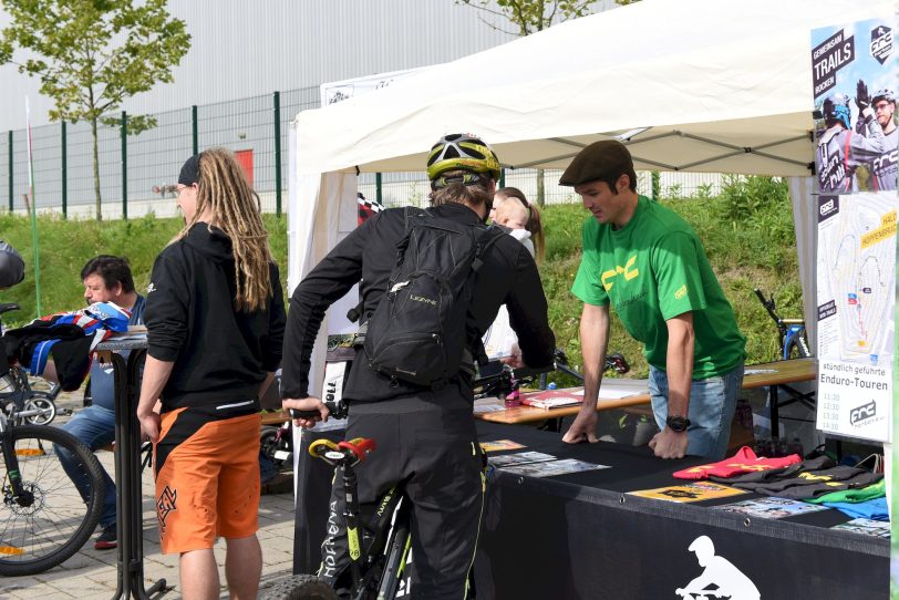
[[[596,7],[614,6],[600,0]],[[455,0],[169,0],[192,46],[175,83],[128,100],[128,113],[156,113],[319,85],[454,60],[510,41],[500,18]],[[487,22],[485,22],[485,20]],[[9,17],[0,11],[0,28]],[[485,65],[502,69],[503,65]],[[0,132],[48,122],[35,80],[0,65]]]

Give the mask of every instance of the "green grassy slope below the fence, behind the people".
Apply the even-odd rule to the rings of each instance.
[[[802,315],[802,287],[789,200],[783,193],[785,186],[763,184],[756,182],[747,192],[741,189],[737,182],[726,187],[725,195],[719,198],[663,200],[681,214],[703,240],[724,293],[734,306],[740,328],[748,339],[750,363],[777,358],[774,322],[755,298],[753,288],[774,293],[784,317]],[[764,194],[764,201],[757,199],[760,194]],[[743,210],[743,204],[748,204],[751,210]],[[549,301],[549,320],[558,346],[566,351],[572,365],[578,365],[581,361],[578,340],[581,304],[569,290],[580,261],[580,230],[588,214],[576,203],[548,206],[542,215],[547,255],[540,273]],[[286,273],[287,218],[266,215],[265,220],[276,261]],[[97,254],[126,256],[135,285],[138,289],[146,288],[153,260],[179,230],[180,220],[151,216],[130,221],[96,223],[44,216],[38,219],[38,228],[42,312],[49,314],[83,304],[81,267]],[[22,306],[18,317],[11,314],[9,319],[9,324],[20,324],[37,314],[30,221],[2,215],[0,231],[28,262],[25,281],[0,292],[0,301]],[[624,332],[614,314],[609,350],[627,356],[632,376],[647,375],[648,366],[640,344]],[[559,383],[570,382],[560,379]]]

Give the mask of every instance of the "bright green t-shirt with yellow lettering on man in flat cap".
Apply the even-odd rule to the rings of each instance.
[[[684,312],[693,312],[694,380],[724,374],[745,358],[746,338],[702,242],[685,220],[645,196],[621,229],[587,220],[571,292],[588,304],[611,303],[657,369],[665,369],[665,321]]]

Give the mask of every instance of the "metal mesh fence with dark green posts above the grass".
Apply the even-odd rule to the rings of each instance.
[[[199,148],[224,146],[236,153],[251,177],[268,213],[287,210],[288,131],[297,113],[320,105],[319,87],[275,92],[189,106],[149,115],[155,126],[128,135],[130,115],[113,115],[97,124],[100,190],[104,218],[140,217],[148,213],[174,216],[172,188],[187,156]],[[34,196],[39,211],[79,217],[95,215],[93,145],[89,123],[55,123],[31,134]],[[123,176],[123,172],[125,176]],[[542,201],[575,201],[570,188],[558,186],[559,170],[506,169],[504,184]],[[716,195],[721,177],[714,174],[662,173],[655,195],[662,197]],[[427,179],[421,173],[362,174],[359,188],[386,206],[423,204]],[[638,189],[652,195],[649,173],[641,173]],[[28,203],[28,132],[0,134],[0,206],[25,211]]]

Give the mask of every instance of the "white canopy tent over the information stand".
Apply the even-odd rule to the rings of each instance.
[[[445,133],[478,134],[512,168],[564,168],[619,136],[638,169],[804,177],[794,204],[808,207],[796,200],[812,189],[810,31],[895,10],[895,0],[643,0],[303,111],[291,130],[290,289],[355,226],[356,173],[423,170]],[[814,256],[814,226],[796,216],[802,260]],[[800,267],[810,273],[814,261]]]

